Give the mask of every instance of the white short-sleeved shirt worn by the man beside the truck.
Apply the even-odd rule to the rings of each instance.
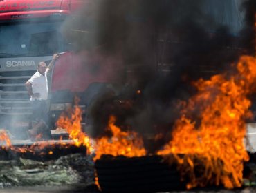
[[[39,100],[47,100],[48,99],[48,82],[47,82],[47,72],[46,70],[45,75],[43,76],[38,71],[28,80],[32,84],[32,92],[39,93],[40,97],[30,97],[30,101],[35,101],[35,99]]]

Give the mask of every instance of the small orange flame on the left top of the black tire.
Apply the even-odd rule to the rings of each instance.
[[[103,136],[96,141],[95,160],[100,159],[102,154],[111,154],[113,156],[145,156],[146,151],[143,148],[143,140],[138,137],[136,132],[123,132],[115,125],[116,117],[110,116],[108,130],[112,136],[109,138]]]

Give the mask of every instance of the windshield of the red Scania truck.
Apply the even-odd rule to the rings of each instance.
[[[44,56],[62,51],[61,22],[0,26],[0,57]]]

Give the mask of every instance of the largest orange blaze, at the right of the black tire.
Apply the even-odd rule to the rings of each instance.
[[[169,160],[179,165],[183,178],[189,176],[188,188],[209,183],[241,187],[243,162],[249,159],[244,145],[245,119],[252,116],[248,94],[255,91],[255,83],[256,59],[247,56],[239,59],[237,74],[195,83],[198,94],[186,103],[172,140],[158,152],[174,154]],[[195,168],[202,175],[196,176]]]

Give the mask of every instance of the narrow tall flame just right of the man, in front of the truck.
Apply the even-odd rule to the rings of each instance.
[[[93,145],[91,144],[91,139],[89,136],[82,131],[81,121],[82,121],[82,110],[77,105],[79,102],[78,97],[75,97],[75,107],[69,116],[60,116],[57,120],[56,125],[61,128],[66,128],[69,137],[73,139],[75,145],[84,145],[89,153],[93,152]]]

